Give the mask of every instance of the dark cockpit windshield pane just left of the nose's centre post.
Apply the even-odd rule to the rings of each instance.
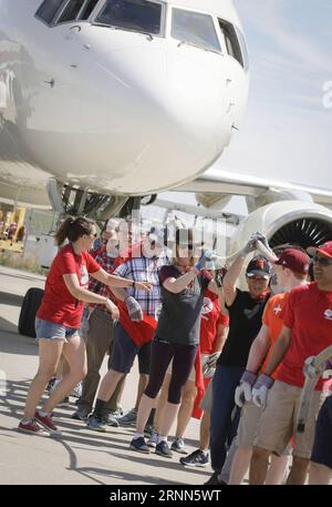
[[[124,30],[158,34],[162,4],[147,0],[107,0],[95,21]]]

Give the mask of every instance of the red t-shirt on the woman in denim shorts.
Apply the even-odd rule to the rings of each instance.
[[[66,288],[63,275],[75,273],[81,287],[89,287],[89,273],[101,270],[100,264],[87,252],[76,255],[71,245],[64,246],[53,261],[39,318],[79,329],[84,303],[76,300]]]

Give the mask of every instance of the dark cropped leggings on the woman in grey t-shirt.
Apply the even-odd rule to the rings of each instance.
[[[146,396],[149,398],[157,397],[166,371],[173,358],[168,403],[179,404],[181,399],[181,388],[189,378],[196,352],[196,345],[177,345],[154,341],[151,351],[149,381],[144,392]]]

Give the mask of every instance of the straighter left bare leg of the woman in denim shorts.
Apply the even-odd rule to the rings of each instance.
[[[39,368],[29,388],[24,408],[25,420],[33,419],[40,398],[55,374],[63,345],[62,339],[39,341]]]

